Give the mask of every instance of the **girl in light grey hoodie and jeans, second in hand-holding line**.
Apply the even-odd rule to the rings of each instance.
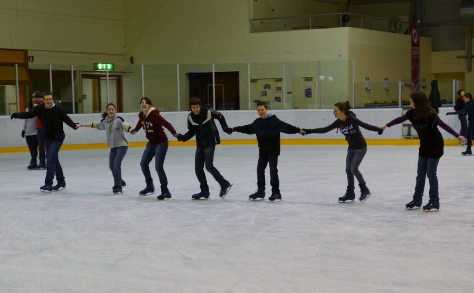
[[[114,177],[114,194],[122,193],[122,188],[127,184],[122,179],[122,161],[128,151],[128,140],[125,131],[133,132],[133,128],[116,113],[116,107],[110,103],[107,105],[107,111],[102,113],[100,122],[94,121],[90,124],[80,124],[79,127],[93,127],[99,130],[105,130],[107,136],[107,147],[110,148],[109,168]]]

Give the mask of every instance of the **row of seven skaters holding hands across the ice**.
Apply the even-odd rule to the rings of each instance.
[[[109,106],[111,105],[114,108],[113,111],[109,110]],[[53,152],[51,152],[51,154],[47,152],[48,171],[45,180],[45,186],[41,188],[42,191],[51,191],[51,189],[58,190],[58,186],[59,188],[65,187],[64,176],[62,174],[62,169],[59,164],[59,160],[57,159],[57,153],[59,152],[62,140],[64,140],[62,122],[66,123],[74,129],[77,129],[80,126],[89,125],[102,130],[107,129],[106,125],[97,126],[99,125],[97,122],[91,123],[89,125],[81,125],[79,123],[74,123],[72,122],[72,120],[70,120],[67,114],[65,114],[64,110],[60,106],[56,106],[56,111],[51,111],[51,108],[53,108],[54,106],[56,105],[52,102],[52,93],[48,92],[48,98],[45,97],[45,106],[43,106],[42,108],[37,106],[29,112],[12,114],[12,119],[26,119],[35,116],[40,117],[40,119],[42,120],[43,128],[45,128],[45,134],[48,133],[48,143],[45,143],[47,151],[51,145],[50,140],[58,140],[57,143],[54,143]],[[257,190],[255,191],[255,193],[249,196],[249,200],[262,200],[265,198],[265,169],[266,166],[269,165],[271,195],[268,199],[272,202],[279,201],[282,199],[279,190],[279,179],[277,169],[278,156],[280,155],[280,132],[288,134],[300,133],[301,135],[306,135],[312,133],[326,133],[337,128],[336,132],[340,131],[341,134],[345,136],[345,139],[348,142],[345,167],[345,172],[347,175],[347,189],[344,196],[339,198],[339,202],[354,201],[354,177],[355,179],[357,179],[358,185],[360,187],[359,201],[364,202],[370,197],[371,192],[366,186],[366,182],[364,181],[362,174],[358,170],[359,165],[361,164],[367,152],[367,144],[360,131],[359,126],[370,131],[376,131],[378,134],[382,134],[387,127],[391,127],[393,125],[403,123],[406,120],[410,120],[420,138],[420,148],[418,154],[418,170],[416,177],[415,193],[413,195],[413,200],[406,205],[406,208],[411,209],[421,207],[425,180],[426,177],[428,177],[430,184],[430,199],[428,204],[423,207],[423,210],[426,211],[432,209],[439,209],[438,179],[436,176],[436,171],[439,159],[443,155],[444,140],[437,126],[442,127],[447,132],[458,138],[461,143],[466,141],[464,136],[459,135],[439,118],[439,116],[429,105],[428,98],[423,92],[414,92],[410,94],[410,106],[413,109],[407,111],[401,117],[398,117],[381,127],[369,125],[359,120],[356,117],[355,113],[350,111],[351,106],[349,102],[336,103],[333,108],[333,114],[336,120],[330,125],[321,128],[300,129],[299,127],[283,122],[278,119],[276,115],[268,113],[268,108],[265,102],[257,103],[257,113],[259,117],[255,119],[251,124],[232,127],[227,125],[222,113],[215,111],[209,107],[203,107],[201,100],[199,98],[194,97],[189,100],[189,107],[191,108],[191,113],[189,113],[189,115],[187,116],[188,131],[184,134],[180,134],[176,133],[173,126],[159,114],[159,110],[152,106],[151,100],[149,98],[142,98],[140,106],[142,108],[142,111],[139,113],[139,122],[137,123],[137,126],[134,129],[131,128],[130,125],[128,125],[123,120],[123,118],[119,117],[120,120],[116,125],[121,126],[115,127],[113,126],[113,124],[110,124],[110,131],[108,135],[112,133],[112,129],[121,131],[122,134],[124,130],[130,132],[131,134],[135,134],[140,128],[144,129],[146,137],[149,141],[147,142],[147,146],[145,148],[140,166],[145,176],[145,182],[147,186],[144,190],[140,192],[140,196],[147,196],[154,193],[154,186],[152,183],[148,164],[153,158],[155,158],[155,170],[158,173],[161,185],[161,194],[158,196],[158,200],[172,198],[169,190],[167,189],[167,179],[163,169],[164,158],[168,149],[168,140],[163,131],[163,126],[167,128],[171,132],[171,134],[179,141],[189,140],[196,135],[197,149],[195,155],[195,172],[198,181],[200,182],[201,192],[192,196],[192,199],[195,200],[208,199],[210,196],[209,186],[207,184],[204,168],[206,168],[206,170],[211,173],[211,175],[220,184],[221,191],[219,196],[221,198],[224,198],[232,187],[232,184],[226,179],[224,179],[224,177],[213,165],[215,148],[216,145],[220,143],[219,131],[214,120],[218,120],[223,131],[228,134],[231,134],[233,131],[246,134],[256,134],[259,149],[257,163]],[[46,115],[45,113],[49,114]],[[116,115],[115,105],[108,105],[108,114],[109,116],[105,117],[103,121],[107,120],[107,118],[109,118],[109,121],[113,120]],[[456,112],[453,114],[458,113]],[[101,123],[103,121],[101,121]],[[54,128],[54,131],[49,130],[50,126],[51,129]],[[55,135],[51,136],[51,134],[49,134],[50,132],[55,132]],[[109,140],[110,139],[108,136],[108,144]],[[122,147],[125,147],[125,145],[122,145]],[[122,154],[119,156],[120,162],[125,156],[125,153],[126,151],[122,152]],[[117,167],[114,167],[114,164],[112,163],[112,160],[115,158],[115,156],[112,156],[112,149],[110,158],[111,171],[114,175],[114,180],[116,184],[114,186],[114,193],[119,193],[116,191],[120,189],[120,192],[122,192],[121,187],[125,186],[125,182],[121,179],[121,177],[118,176],[120,172],[117,171]],[[58,180],[58,185],[52,187],[51,177],[54,177],[55,173]]]

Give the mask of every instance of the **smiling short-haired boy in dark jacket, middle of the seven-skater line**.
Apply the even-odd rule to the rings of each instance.
[[[249,196],[249,200],[262,200],[265,198],[265,169],[270,165],[271,202],[281,201],[280,181],[278,178],[278,156],[280,155],[280,132],[287,134],[301,133],[303,131],[293,125],[281,121],[268,112],[265,102],[257,103],[257,113],[260,116],[251,124],[230,127],[232,131],[246,134],[256,134],[258,141],[257,163],[257,190]]]

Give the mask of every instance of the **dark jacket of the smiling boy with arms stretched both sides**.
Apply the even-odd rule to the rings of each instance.
[[[257,118],[252,124],[234,127],[234,131],[257,135],[260,154],[276,156],[280,155],[280,132],[294,134],[300,130],[272,114],[268,114],[265,119]]]

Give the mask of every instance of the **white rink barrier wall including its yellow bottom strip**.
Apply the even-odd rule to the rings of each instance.
[[[159,107],[158,107],[159,108]],[[361,121],[371,125],[384,125],[391,120],[402,116],[404,109],[401,108],[372,108],[372,109],[353,109]],[[451,126],[454,130],[459,131],[459,119],[456,115],[446,116],[446,112],[452,111],[451,108],[441,108],[439,116],[441,119]],[[335,118],[332,109],[321,110],[269,110],[269,113],[275,114],[280,120],[290,123],[301,128],[318,128],[324,127],[332,122]],[[255,110],[232,110],[222,111],[227,124],[229,126],[246,125],[253,122],[258,115]],[[169,121],[178,133],[187,131],[187,115],[189,112],[161,112],[167,121]],[[138,112],[135,113],[119,113],[132,127],[138,122]],[[93,114],[69,114],[71,119],[76,123],[91,123],[102,119],[100,113]],[[10,116],[0,116],[0,153],[28,152],[25,138],[21,137],[22,127],[25,120],[10,119]],[[408,122],[408,121],[407,121]],[[362,129],[362,133],[369,145],[418,145],[418,139],[405,139],[402,137],[402,124],[398,124],[387,128],[382,135],[378,135],[374,131]],[[414,132],[414,130],[412,129]],[[458,145],[454,137],[447,133],[444,129],[440,131],[445,139],[445,145]],[[64,124],[65,140],[61,150],[78,150],[78,149],[102,149],[107,148],[106,133],[93,128],[82,127],[77,130],[70,128]],[[186,142],[176,141],[171,133],[165,129],[171,147],[196,145],[195,138]],[[257,144],[255,135],[248,135],[234,132],[231,135],[220,131],[221,144]],[[127,133],[130,141],[130,147],[144,147],[146,137],[143,130],[137,134],[131,135]],[[347,144],[341,133],[332,130],[323,134],[309,134],[302,136],[300,134],[281,133],[281,144]]]

